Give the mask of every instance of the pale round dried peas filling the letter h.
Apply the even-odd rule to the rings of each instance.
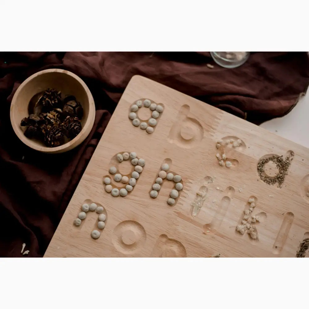
[[[156,198],[159,194],[161,189],[162,183],[164,179],[173,180],[175,182],[175,188],[171,190],[170,197],[167,199],[168,205],[174,205],[176,199],[179,197],[179,191],[182,190],[183,184],[181,183],[182,179],[180,175],[174,175],[169,171],[169,165],[167,163],[163,163],[161,166],[161,170],[158,173],[158,176],[155,180],[155,183],[152,185],[152,190],[150,191],[149,195],[152,198]]]

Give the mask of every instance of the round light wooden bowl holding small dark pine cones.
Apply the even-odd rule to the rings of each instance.
[[[69,142],[50,148],[23,133],[26,127],[20,126],[23,117],[28,117],[28,104],[33,95],[47,88],[60,90],[63,95],[74,95],[83,107],[82,131]],[[10,117],[12,127],[18,138],[32,149],[46,153],[60,153],[78,146],[90,133],[95,121],[95,104],[86,84],[75,74],[61,69],[49,69],[28,77],[16,90],[12,99]]]

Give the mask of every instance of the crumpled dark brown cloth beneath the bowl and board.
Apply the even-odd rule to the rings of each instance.
[[[213,69],[207,63],[214,65]],[[81,77],[96,105],[95,124],[74,150],[46,155],[16,137],[10,103],[31,74],[64,68]],[[309,83],[307,53],[252,53],[225,69],[208,52],[0,53],[0,256],[43,256],[125,87],[142,75],[201,101],[261,123],[283,116]]]

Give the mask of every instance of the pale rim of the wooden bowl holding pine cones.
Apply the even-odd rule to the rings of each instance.
[[[19,128],[19,125],[14,121],[14,117],[13,117],[13,113],[14,113],[14,107],[16,105],[16,100],[17,97],[19,95],[19,92],[23,89],[23,87],[25,87],[27,85],[27,83],[32,80],[33,78],[42,75],[42,74],[46,74],[46,73],[63,73],[63,74],[67,74],[70,75],[71,77],[75,78],[78,83],[81,84],[81,86],[84,88],[84,90],[86,91],[87,97],[88,97],[88,101],[89,101],[89,113],[88,113],[88,117],[87,120],[85,122],[85,125],[82,128],[82,131],[72,140],[70,140],[69,142],[58,146],[58,147],[47,147],[47,146],[40,146],[40,145],[33,145],[32,143],[30,143],[30,139],[28,139],[21,131]],[[64,69],[47,69],[47,70],[42,70],[39,72],[36,72],[34,74],[32,74],[31,76],[29,76],[27,79],[25,79],[23,81],[23,83],[21,83],[19,85],[19,87],[17,88],[17,90],[15,91],[15,94],[13,96],[12,102],[11,102],[11,107],[10,107],[10,119],[11,119],[11,125],[13,127],[13,130],[15,132],[15,134],[18,136],[18,138],[28,147],[38,150],[40,152],[45,152],[45,153],[61,153],[61,152],[65,152],[65,151],[69,151],[73,148],[75,148],[76,146],[78,146],[79,144],[81,144],[85,138],[87,138],[87,136],[89,135],[94,121],[95,121],[95,103],[93,100],[93,97],[91,95],[91,92],[89,90],[89,88],[87,87],[87,85],[83,82],[83,80],[78,77],[76,74],[68,71],[68,70],[64,70]]]

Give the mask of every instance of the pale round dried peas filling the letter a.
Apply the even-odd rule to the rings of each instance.
[[[142,121],[138,118],[137,112],[138,109],[142,106],[149,108],[151,113],[151,118],[148,121]],[[132,120],[132,124],[135,127],[140,127],[142,130],[146,130],[147,133],[151,134],[154,132],[154,127],[157,125],[157,119],[160,117],[163,112],[163,106],[158,105],[156,103],[151,103],[149,99],[145,99],[144,101],[138,100],[130,107],[129,111],[129,119]]]

